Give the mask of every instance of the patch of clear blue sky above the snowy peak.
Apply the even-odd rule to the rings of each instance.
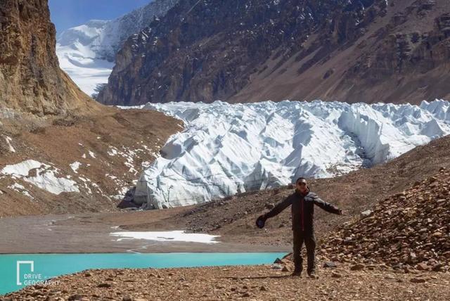
[[[51,22],[58,34],[92,19],[111,20],[151,0],[49,0]]]

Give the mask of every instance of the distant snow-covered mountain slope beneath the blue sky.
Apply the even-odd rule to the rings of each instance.
[[[155,0],[115,20],[90,20],[61,32],[56,40],[60,67],[86,94],[96,93],[108,82],[117,51],[132,34],[137,34],[162,17],[178,0]]]

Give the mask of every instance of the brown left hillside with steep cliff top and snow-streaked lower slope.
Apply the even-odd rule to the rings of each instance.
[[[0,217],[114,210],[181,122],[96,103],[60,70],[46,0],[0,2]]]

